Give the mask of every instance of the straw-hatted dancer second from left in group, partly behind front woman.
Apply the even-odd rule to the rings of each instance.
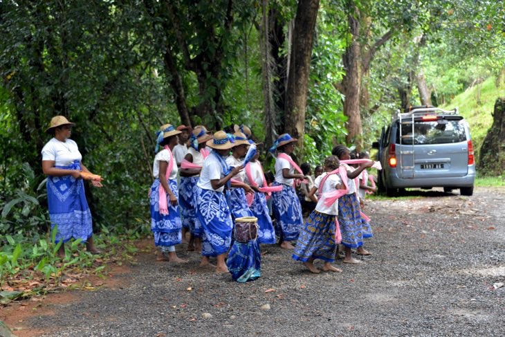
[[[200,179],[203,161],[210,154],[205,143],[212,139],[207,130],[196,127],[191,134],[191,147],[181,164],[181,186],[179,187],[179,205],[183,217],[183,228],[190,228],[191,238],[187,244],[188,251],[201,251],[200,221],[196,217],[196,185]]]

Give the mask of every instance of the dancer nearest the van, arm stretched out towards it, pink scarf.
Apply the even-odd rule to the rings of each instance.
[[[341,162],[351,158],[349,149],[344,145],[333,147],[331,154],[337,156]],[[347,194],[338,199],[338,223],[340,224],[340,230],[342,232],[342,245],[345,247],[344,263],[359,264],[360,260],[354,259],[351,256],[351,248],[356,248],[356,254],[358,255],[370,255],[371,253],[362,247],[364,228],[362,228],[360,203],[356,195],[356,183],[354,183],[353,179],[355,179],[362,170],[374,165],[374,162],[369,161],[361,163],[356,170],[353,170],[352,167],[345,163],[341,163],[341,165],[344,165],[347,170],[348,189]]]

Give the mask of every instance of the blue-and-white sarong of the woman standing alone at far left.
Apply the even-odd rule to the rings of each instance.
[[[55,167],[80,170],[81,164],[74,161],[71,165]],[[93,235],[93,221],[84,194],[84,181],[73,176],[48,176],[46,187],[51,229],[57,225],[55,241],[89,239]]]

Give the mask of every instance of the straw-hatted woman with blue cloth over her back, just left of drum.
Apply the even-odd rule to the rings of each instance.
[[[210,266],[209,258],[215,256],[216,271],[226,273],[228,268],[224,258],[232,242],[233,223],[225,193],[229,193],[232,176],[244,167],[239,165],[230,169],[226,163],[235,139],[225,131],[217,131],[207,146],[212,152],[203,162],[196,196],[199,201],[196,216],[203,228],[200,266]]]

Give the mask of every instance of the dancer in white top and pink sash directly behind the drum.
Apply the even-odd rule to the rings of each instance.
[[[275,244],[275,230],[273,229],[272,218],[266,205],[266,194],[261,191],[266,191],[268,185],[263,173],[263,167],[259,163],[258,158],[261,154],[261,146],[257,146],[257,152],[252,160],[246,165],[246,183],[255,190],[254,199],[249,208],[258,219],[258,243],[259,244]],[[281,187],[282,188],[282,187]],[[270,192],[267,192],[271,195]]]

